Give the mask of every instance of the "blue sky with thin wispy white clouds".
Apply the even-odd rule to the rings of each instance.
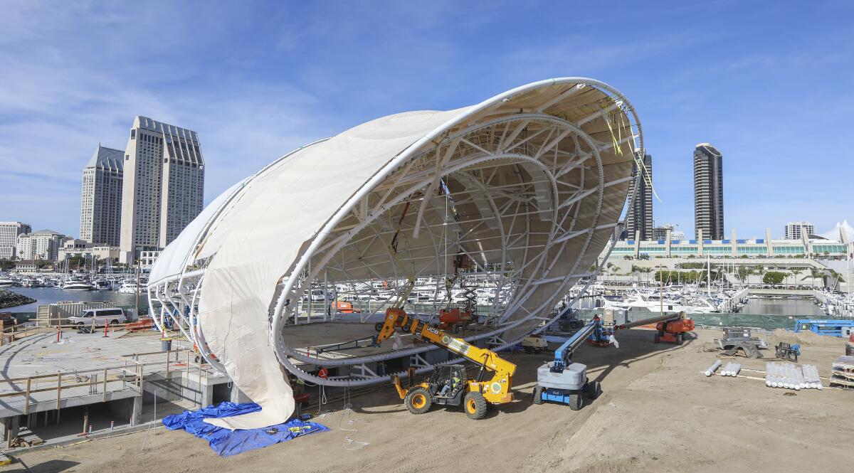
[[[208,202],[366,120],[582,76],[635,104],[658,224],[693,231],[701,142],[727,231],[854,221],[854,3],[461,4],[3,2],[0,220],[77,235],[82,167],[137,114],[198,131]]]

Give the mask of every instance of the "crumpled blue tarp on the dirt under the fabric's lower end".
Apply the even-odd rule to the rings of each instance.
[[[229,430],[204,422],[205,418],[227,418],[255,411],[260,411],[260,406],[257,404],[235,404],[226,401],[198,411],[184,411],[183,414],[167,416],[163,418],[163,425],[170,430],[184,429],[200,439],[207,440],[211,449],[220,457],[268,447],[290,441],[301,435],[329,430],[319,423],[302,422],[297,419],[263,429],[249,430]]]

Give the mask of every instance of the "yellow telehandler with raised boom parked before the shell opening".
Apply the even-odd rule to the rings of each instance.
[[[427,380],[412,385],[414,369],[409,371],[410,385],[401,387],[397,375],[391,377],[392,383],[401,396],[404,405],[413,414],[423,414],[433,404],[444,406],[463,406],[465,415],[472,419],[481,419],[486,415],[489,405],[506,404],[513,400],[510,392],[516,365],[502,359],[488,348],[476,347],[462,338],[456,338],[444,330],[427,324],[423,320],[410,317],[400,307],[389,307],[385,312],[385,322],[374,342],[379,344],[392,336],[395,331],[411,333],[413,336],[433,343],[437,347],[456,353],[480,366],[477,377],[466,376],[464,365],[436,365]],[[492,377],[483,381],[487,372]]]

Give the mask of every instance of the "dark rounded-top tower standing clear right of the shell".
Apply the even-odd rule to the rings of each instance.
[[[709,143],[694,149],[694,229],[698,239],[723,238],[723,160]]]

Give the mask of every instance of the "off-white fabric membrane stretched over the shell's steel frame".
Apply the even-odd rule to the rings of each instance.
[[[447,272],[457,249],[437,256],[442,245],[436,241],[459,232],[463,250],[480,265],[504,260],[516,266],[521,289],[515,297],[524,297],[508,320],[528,317],[564,295],[604,248],[629,185],[634,140],[625,138],[633,133],[631,122],[613,106],[616,94],[604,90],[589,79],[553,79],[468,108],[372,120],[295,150],[214,201],[164,250],[152,272],[163,277],[209,259],[199,326],[231,380],[262,409],[206,422],[253,429],[284,422],[294,411],[272,345],[272,305],[283,277],[315,238],[332,242],[371,221],[341,248],[321,245],[311,256],[314,271],[323,266],[330,279],[345,281]],[[428,135],[430,141],[410,149]],[[364,205],[354,205],[329,234],[319,234],[377,173],[386,177]],[[435,184],[439,177],[457,202],[459,221],[448,219],[447,197]],[[422,182],[417,193],[406,194]],[[395,203],[374,209],[383,199]],[[401,224],[401,266],[388,247],[407,201],[412,208]],[[592,230],[581,231],[586,229]],[[543,251],[560,236],[564,241]],[[322,265],[326,256],[330,261]],[[567,283],[570,275],[576,276]],[[524,335],[539,323],[529,320],[504,338]]]

